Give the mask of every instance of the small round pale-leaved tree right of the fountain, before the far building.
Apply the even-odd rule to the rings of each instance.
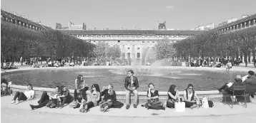
[[[158,60],[162,60],[164,58],[173,58],[177,55],[177,52],[174,49],[173,44],[170,43],[168,39],[158,41],[154,47]]]

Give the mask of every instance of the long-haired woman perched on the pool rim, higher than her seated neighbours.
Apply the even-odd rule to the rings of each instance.
[[[87,83],[84,80],[83,75],[78,75],[77,79],[74,81],[75,90],[74,90],[74,108],[80,107],[82,99],[87,100],[87,90],[89,89]],[[82,97],[80,95],[82,94]],[[77,102],[78,101],[78,102]],[[80,103],[80,104],[79,104]]]

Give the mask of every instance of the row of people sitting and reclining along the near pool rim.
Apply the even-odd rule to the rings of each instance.
[[[56,86],[55,91],[52,94],[43,92],[38,105],[30,105],[31,109],[38,109],[41,107],[50,108],[63,108],[65,104],[70,104],[70,107],[79,108],[80,112],[88,112],[90,108],[99,105],[99,109],[105,112],[111,107],[117,107],[123,105],[122,102],[117,101],[116,93],[112,84],[107,87],[103,87],[102,91],[99,90],[98,84],[93,84],[91,90],[83,75],[78,75],[74,82],[74,98],[70,95],[69,90],[65,86]],[[126,88],[126,109],[129,109],[129,98],[130,94],[134,94],[134,108],[137,108],[139,82],[134,72],[129,70],[127,77],[125,78],[124,87]],[[165,109],[164,103],[159,101],[159,93],[154,88],[153,83],[149,83],[149,90],[147,91],[147,103],[142,105],[142,107],[147,107],[147,109]],[[33,100],[35,92],[31,84],[27,85],[27,90],[25,92],[16,92],[14,99],[11,101],[12,104],[19,104],[21,100]],[[187,89],[184,90],[184,100],[179,99],[179,91],[176,85],[170,85],[169,91],[167,92],[168,100],[167,107],[174,108],[175,102],[184,102],[186,107],[194,108],[198,107],[199,98],[197,93],[193,90],[193,85],[189,84]],[[103,96],[103,99],[102,99]]]

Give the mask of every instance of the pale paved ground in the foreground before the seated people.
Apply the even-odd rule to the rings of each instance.
[[[174,120],[176,122],[242,122],[256,120],[256,100],[254,103],[247,103],[247,108],[240,105],[234,105],[232,109],[229,105],[221,102],[215,102],[215,107],[209,109],[189,109],[185,112],[175,112],[174,109],[166,110],[145,109],[138,106],[137,109],[130,107],[125,109],[109,109],[108,112],[100,112],[99,107],[93,107],[87,113],[79,112],[79,109],[73,109],[67,105],[63,109],[41,109],[30,110],[29,104],[36,105],[37,100],[21,102],[19,105],[10,104],[13,96],[1,97],[1,122],[167,122]],[[154,115],[156,114],[156,115]],[[237,116],[242,116],[240,119]],[[229,118],[227,118],[229,117]],[[119,120],[120,119],[120,120]],[[121,120],[125,119],[125,120]],[[251,120],[249,120],[251,119]]]

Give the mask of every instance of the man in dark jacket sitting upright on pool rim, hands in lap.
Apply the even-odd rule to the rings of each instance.
[[[131,92],[134,94],[134,108],[137,108],[137,100],[138,100],[138,91],[137,88],[139,87],[138,78],[134,76],[134,72],[132,70],[128,70],[127,77],[125,78],[124,87],[126,88],[126,103],[127,109],[129,109],[129,97]]]

